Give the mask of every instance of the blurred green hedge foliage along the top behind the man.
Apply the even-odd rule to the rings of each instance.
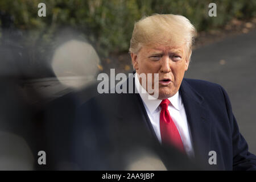
[[[46,3],[47,16],[38,17],[38,4]],[[210,2],[217,17],[208,16]],[[0,10],[14,16],[15,27],[27,32],[24,45],[41,53],[55,47],[55,35],[72,27],[89,40],[102,57],[128,50],[134,22],[154,13],[186,16],[198,31],[223,26],[232,18],[256,16],[256,1],[249,0],[1,0]],[[38,41],[40,39],[40,41]]]

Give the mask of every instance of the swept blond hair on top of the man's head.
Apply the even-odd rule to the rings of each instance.
[[[138,53],[142,46],[160,44],[163,46],[187,44],[189,57],[196,28],[181,15],[154,14],[134,24],[129,52]]]

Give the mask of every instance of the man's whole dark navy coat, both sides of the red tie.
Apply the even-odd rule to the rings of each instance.
[[[73,133],[76,163],[81,169],[124,169],[129,151],[143,144],[156,148],[167,169],[256,170],[256,156],[240,134],[225,90],[184,78],[179,92],[195,151],[192,163],[158,143],[138,93],[100,94],[80,107]],[[209,164],[210,151],[217,164]]]

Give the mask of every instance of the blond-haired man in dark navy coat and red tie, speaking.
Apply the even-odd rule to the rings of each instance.
[[[256,169],[225,90],[183,78],[195,36],[180,15],[135,23],[135,73],[122,84],[132,81],[133,92],[101,94],[77,113],[73,156],[81,169],[127,169],[130,159],[139,160],[138,150],[150,151],[166,169]]]

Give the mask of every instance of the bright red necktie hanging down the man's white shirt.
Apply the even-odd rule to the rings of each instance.
[[[174,121],[172,121],[171,115],[168,111],[169,104],[170,101],[168,99],[162,100],[160,103],[160,106],[162,107],[160,113],[160,133],[162,143],[172,144],[180,151],[185,152],[179,131],[177,130]]]

